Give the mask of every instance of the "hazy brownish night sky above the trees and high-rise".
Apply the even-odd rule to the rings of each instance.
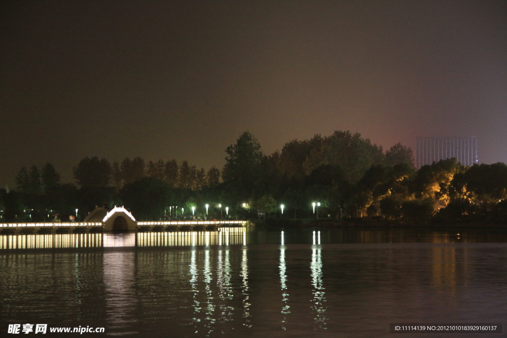
[[[85,156],[222,167],[245,130],[477,136],[507,163],[507,2],[2,2],[0,128],[2,187]]]

